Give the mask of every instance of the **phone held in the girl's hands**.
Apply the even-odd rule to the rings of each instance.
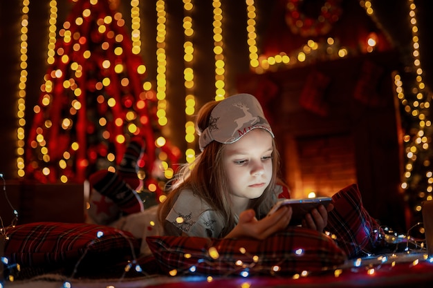
[[[305,214],[309,213],[314,208],[317,208],[320,204],[324,207],[328,206],[329,203],[332,203],[331,197],[316,197],[316,198],[304,198],[304,199],[284,199],[279,200],[272,209],[270,209],[268,215],[275,213],[282,207],[282,205],[290,205],[292,207],[292,219],[291,225],[299,225],[304,219]]]

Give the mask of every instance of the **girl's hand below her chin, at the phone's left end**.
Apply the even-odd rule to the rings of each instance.
[[[254,238],[264,240],[273,233],[284,230],[292,218],[291,207],[282,207],[261,220],[255,211],[248,209],[239,215],[239,222],[225,238]]]

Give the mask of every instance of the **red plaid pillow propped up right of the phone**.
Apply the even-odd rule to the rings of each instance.
[[[349,258],[365,256],[383,246],[384,231],[362,206],[357,184],[351,184],[333,195],[334,209],[328,214],[327,231],[337,238],[338,246]]]

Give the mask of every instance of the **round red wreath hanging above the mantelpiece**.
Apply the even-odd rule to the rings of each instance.
[[[342,8],[340,7],[341,0],[326,0],[322,7],[320,7],[320,12],[306,15],[306,9],[304,8],[307,5],[308,8],[319,8],[314,2],[317,3],[317,1],[312,0],[287,0],[285,18],[293,34],[301,35],[302,37],[326,35],[331,30],[333,23],[340,19],[342,13]],[[311,14],[316,14],[317,16],[312,16]]]

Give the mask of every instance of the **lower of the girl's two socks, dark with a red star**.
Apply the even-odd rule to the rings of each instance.
[[[125,213],[143,211],[140,196],[118,174],[106,170],[98,171],[89,177],[89,182],[95,191],[113,200]]]

